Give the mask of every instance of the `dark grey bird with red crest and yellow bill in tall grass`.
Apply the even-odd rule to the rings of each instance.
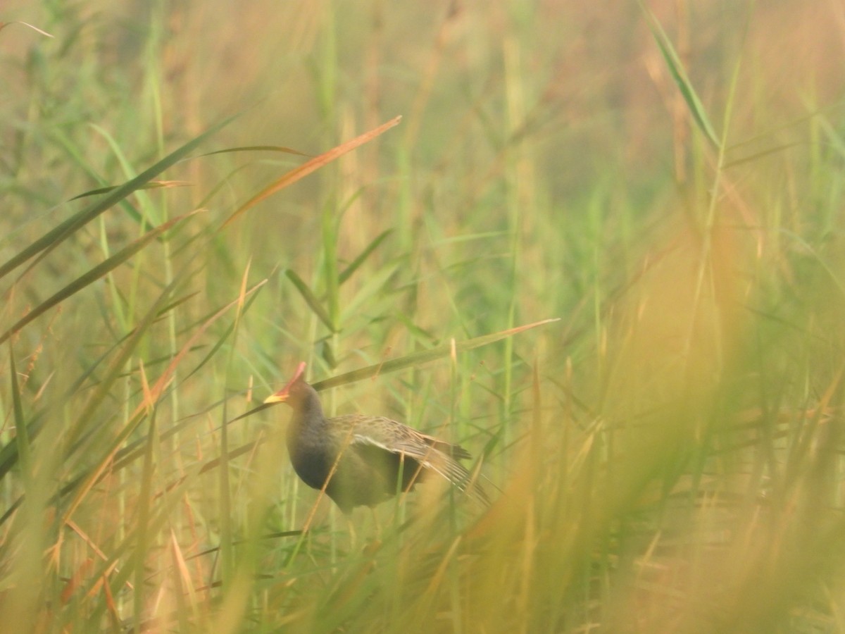
[[[346,516],[357,506],[373,508],[408,491],[433,473],[490,505],[481,484],[458,462],[472,457],[461,445],[381,416],[326,418],[317,391],[305,381],[305,368],[299,363],[292,379],[264,403],[292,408],[286,441],[293,469],[312,489],[324,489]]]

